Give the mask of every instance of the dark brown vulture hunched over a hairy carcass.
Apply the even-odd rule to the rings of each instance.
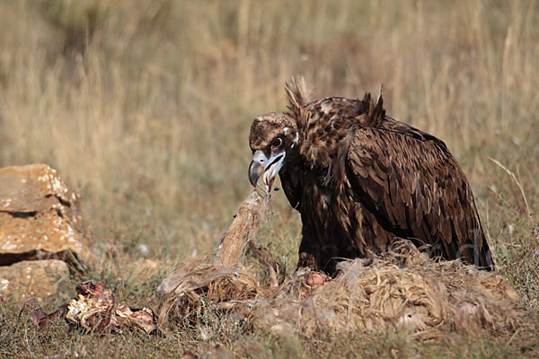
[[[249,179],[277,174],[301,215],[298,267],[336,274],[344,258],[371,258],[396,239],[430,257],[493,270],[464,171],[437,137],[385,114],[382,94],[311,101],[286,85],[285,112],[252,122]]]

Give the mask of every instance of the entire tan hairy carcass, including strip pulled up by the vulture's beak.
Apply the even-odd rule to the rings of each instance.
[[[434,338],[455,329],[510,335],[536,325],[503,276],[459,260],[429,258],[404,240],[380,257],[341,262],[340,274],[325,285],[311,287],[308,271],[297,271],[278,287],[262,287],[241,258],[268,215],[267,199],[253,191],[239,207],[216,255],[234,258],[229,267],[216,266],[216,259],[211,266],[193,262],[165,278],[159,288],[161,325],[192,323],[207,302],[281,335],[397,329]]]

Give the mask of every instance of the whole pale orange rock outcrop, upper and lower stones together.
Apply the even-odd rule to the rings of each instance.
[[[45,297],[90,258],[79,197],[46,164],[0,169],[0,297]]]

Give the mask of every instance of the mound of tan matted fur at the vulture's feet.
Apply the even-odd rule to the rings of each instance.
[[[260,301],[253,322],[277,333],[394,328],[423,338],[455,329],[510,335],[535,325],[519,294],[497,274],[460,261],[435,261],[409,241],[394,243],[384,257],[368,262],[341,262],[339,276],[307,293],[296,290],[305,287],[297,277],[274,298]]]

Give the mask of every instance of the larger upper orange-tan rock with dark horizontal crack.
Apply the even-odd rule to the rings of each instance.
[[[46,164],[0,169],[0,266],[61,259],[78,267],[89,258],[90,234],[79,197]]]

